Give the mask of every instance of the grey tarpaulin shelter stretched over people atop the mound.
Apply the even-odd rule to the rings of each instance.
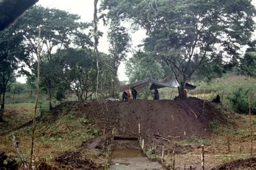
[[[129,88],[129,89],[134,88],[137,91],[140,91],[146,86],[150,86],[150,89],[153,90],[153,89],[160,89],[160,88],[164,88],[164,87],[170,87],[170,88],[179,87],[179,83],[176,79],[173,79],[170,77],[166,77],[162,81],[157,81],[152,78],[147,78],[147,79],[143,79],[143,80],[140,80],[140,81],[137,81],[134,83],[125,84],[124,86],[119,87],[118,91],[125,91],[127,88]],[[196,86],[186,83],[185,88],[186,89],[194,89],[194,88],[196,88]]]

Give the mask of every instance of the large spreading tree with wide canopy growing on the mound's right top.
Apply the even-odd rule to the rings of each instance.
[[[108,15],[133,22],[146,30],[145,51],[171,68],[184,98],[187,80],[214,60],[236,62],[254,29],[255,8],[237,1],[104,1]]]

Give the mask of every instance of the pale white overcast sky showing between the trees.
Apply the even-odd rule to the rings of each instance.
[[[0,0],[1,1],[1,0]],[[39,0],[36,4],[42,5],[48,8],[56,8],[60,10],[68,11],[69,13],[75,13],[81,17],[81,22],[92,22],[93,20],[93,2],[94,0]],[[100,1],[99,1],[100,3]],[[252,1],[252,4],[256,6],[256,0]],[[125,26],[129,27],[129,23],[125,23]],[[100,21],[98,25],[98,30],[103,32],[103,37],[99,39],[98,49],[100,52],[109,53],[109,42],[107,42],[107,30],[108,27],[103,25],[103,22]],[[129,30],[129,33],[132,38],[132,48],[131,51],[136,49],[138,45],[142,44],[143,39],[146,37],[144,30],[138,30],[133,32]],[[132,56],[130,52],[127,54],[127,59]],[[125,64],[124,62],[118,68],[118,77],[120,81],[128,80],[128,77],[125,74]],[[17,81],[25,83],[25,77],[18,77]]]

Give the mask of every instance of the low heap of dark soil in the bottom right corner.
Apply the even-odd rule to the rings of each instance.
[[[232,162],[228,162],[222,165],[219,165],[217,168],[212,168],[214,170],[219,169],[256,169],[256,158],[248,159],[238,159]]]

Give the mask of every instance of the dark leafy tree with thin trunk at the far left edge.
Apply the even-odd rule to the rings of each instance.
[[[6,90],[15,81],[14,71],[28,56],[22,40],[22,34],[12,28],[0,31],[0,122],[3,122]]]

